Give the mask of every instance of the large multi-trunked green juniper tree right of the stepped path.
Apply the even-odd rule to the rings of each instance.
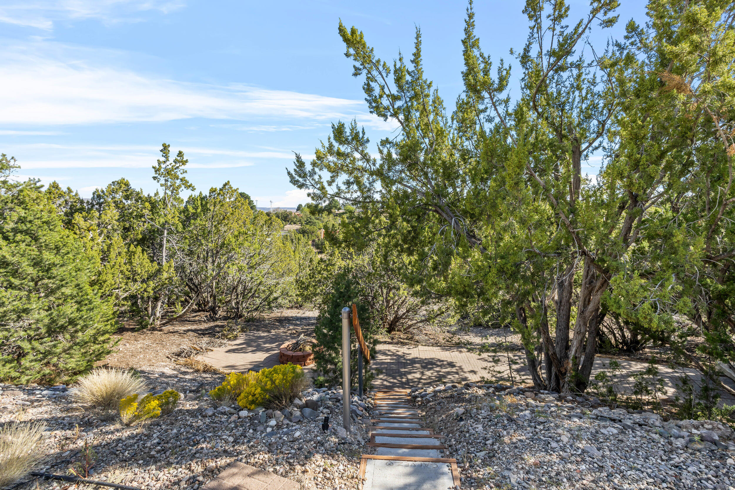
[[[289,172],[310,208],[356,206],[360,239],[387,236],[426,294],[514,325],[537,388],[587,389],[606,314],[637,331],[634,348],[653,339],[688,356],[699,334],[700,358],[735,356],[735,5],[651,0],[647,24],[589,45],[617,6],[592,1],[570,22],[563,2],[527,2],[512,73],[481,50],[470,2],[451,116],[424,76],[420,30],[411,59],[390,64],[340,23],[368,109],[398,129],[373,153],[356,121],[334,123]],[[592,179],[582,169],[598,156]]]

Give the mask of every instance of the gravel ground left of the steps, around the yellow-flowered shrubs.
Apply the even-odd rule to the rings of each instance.
[[[84,476],[79,464],[91,450],[89,478],[143,489],[197,490],[232,461],[299,481],[304,489],[356,487],[373,404],[367,396],[352,397],[354,430],[347,434],[341,427],[341,390],[309,389],[289,411],[243,411],[218,406],[206,396],[221,383],[221,375],[182,370],[162,380],[159,373],[141,374],[156,392],[171,388],[181,393],[173,413],[126,427],[115,412],[74,403],[66,386],[0,385],[0,425],[46,424],[43,451],[48,458],[38,469],[43,472],[68,475],[76,469]],[[324,416],[332,418],[326,433]],[[30,480],[24,486],[83,487],[57,480]]]

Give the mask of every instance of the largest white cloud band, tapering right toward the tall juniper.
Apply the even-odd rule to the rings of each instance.
[[[48,41],[0,45],[0,120],[52,126],[208,118],[295,127],[357,118],[365,126],[395,127],[363,112],[364,101],[160,79],[104,62],[117,55]]]

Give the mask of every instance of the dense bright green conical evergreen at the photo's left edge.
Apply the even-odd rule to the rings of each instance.
[[[0,379],[71,381],[114,344],[112,301],[92,285],[96,259],[35,181],[0,181],[0,215]]]

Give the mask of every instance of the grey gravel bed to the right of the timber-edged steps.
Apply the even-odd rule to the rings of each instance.
[[[502,385],[412,389],[462,489],[729,489],[733,430]],[[709,442],[707,442],[709,441]]]

